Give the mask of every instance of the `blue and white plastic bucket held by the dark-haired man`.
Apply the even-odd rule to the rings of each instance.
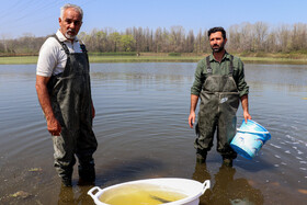
[[[271,134],[260,124],[248,119],[242,122],[238,133],[230,143],[231,148],[247,159],[252,159],[262,148],[266,140],[271,139]]]

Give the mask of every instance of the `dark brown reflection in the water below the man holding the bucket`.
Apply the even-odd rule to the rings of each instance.
[[[212,187],[200,198],[201,205],[263,204],[263,195],[243,178],[235,179],[236,169],[221,166],[212,179],[206,163],[196,162],[193,179],[203,183],[211,180]]]

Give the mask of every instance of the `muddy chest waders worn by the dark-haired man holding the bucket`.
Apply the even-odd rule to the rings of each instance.
[[[239,106],[239,92],[234,80],[231,56],[228,75],[213,75],[207,62],[207,77],[201,91],[201,104],[196,125],[197,138],[195,148],[204,151],[211,150],[214,140],[214,133],[217,129],[217,151],[223,156],[236,158],[236,152],[229,146],[236,134]]]

